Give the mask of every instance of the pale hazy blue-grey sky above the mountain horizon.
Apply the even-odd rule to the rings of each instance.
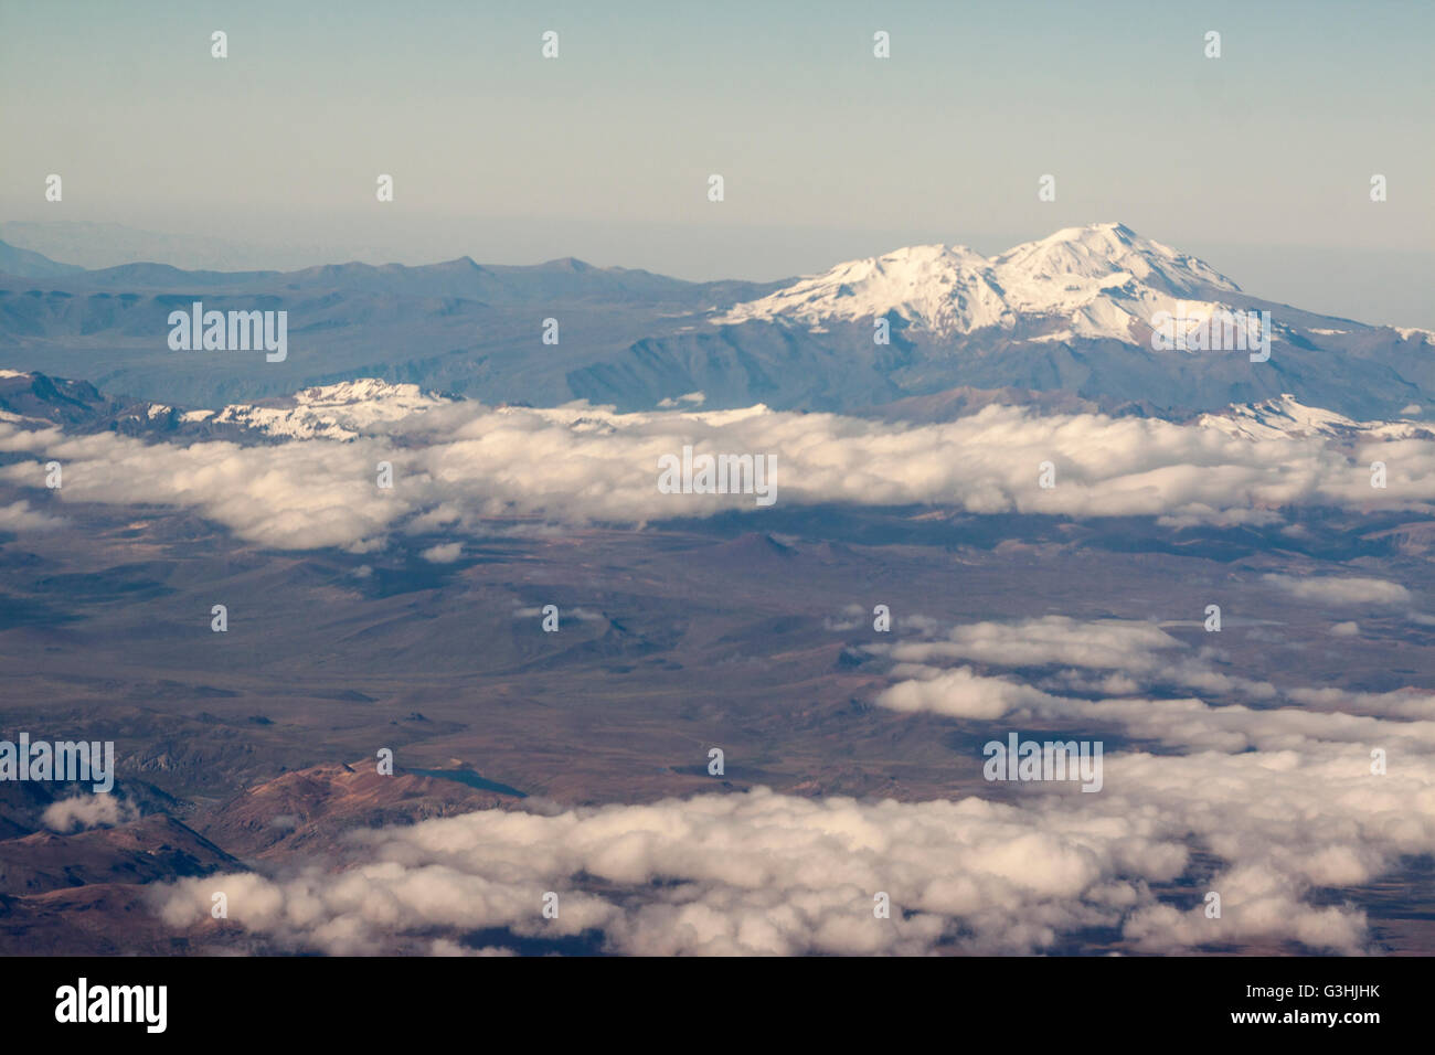
[[[1432,42],[1428,0],[0,0],[0,220],[752,278],[1122,220],[1254,293],[1432,326]]]

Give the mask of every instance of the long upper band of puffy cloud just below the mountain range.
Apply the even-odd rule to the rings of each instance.
[[[1274,522],[1287,505],[1428,510],[1435,442],[1250,439],[1214,428],[987,406],[936,425],[831,413],[673,409],[614,413],[456,402],[375,422],[350,442],[145,444],[0,422],[0,451],[66,465],[62,501],[194,508],[278,548],[364,548],[389,533],[485,517],[641,524],[755,508],[752,494],[664,494],[659,458],[772,455],[781,504],[949,505],[974,514],[1152,515],[1172,524]],[[954,458],[953,451],[961,456]],[[1391,466],[1372,489],[1365,466]],[[377,488],[375,466],[393,465]],[[1039,465],[1056,485],[1038,485]],[[37,485],[33,462],[0,477]]]

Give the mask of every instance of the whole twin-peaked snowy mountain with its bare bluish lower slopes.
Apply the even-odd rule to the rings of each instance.
[[[842,411],[1026,389],[1171,418],[1292,393],[1391,419],[1435,393],[1429,333],[1263,300],[1114,222],[992,258],[918,245],[848,261],[706,323],[574,370],[568,386],[634,409],[700,390],[709,405]]]

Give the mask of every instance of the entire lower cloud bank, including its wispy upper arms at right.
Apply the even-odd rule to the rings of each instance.
[[[1201,659],[1145,623],[923,629],[936,640],[891,647],[905,657],[883,706],[1060,729],[1062,739],[1116,732],[1162,752],[1108,751],[1096,794],[1035,782],[1007,788],[1015,798],[1002,802],[756,788],[479,811],[357,833],[337,868],[184,880],[154,893],[155,910],[171,926],[202,926],[222,881],[231,920],[277,947],[330,953],[468,953],[464,934],[492,929],[515,943],[597,934],[608,952],[639,955],[1030,953],[1092,929],[1144,952],[1274,943],[1359,953],[1372,946],[1365,913],[1313,894],[1435,851],[1429,696],[1280,689],[1299,706],[1269,708],[1081,699],[933,663],[1055,660],[1137,683],[1152,657],[1192,670]],[[1376,749],[1385,771],[1372,765]],[[976,779],[983,756],[953,765]],[[1195,851],[1220,863],[1214,874]],[[1158,887],[1177,893],[1158,897]],[[1218,919],[1205,916],[1210,890],[1221,896]],[[557,919],[542,916],[548,891]],[[872,911],[878,894],[890,919]]]

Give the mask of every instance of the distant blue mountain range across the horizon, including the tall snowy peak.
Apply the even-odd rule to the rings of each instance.
[[[1185,419],[1290,395],[1362,421],[1435,399],[1435,334],[1261,300],[1121,224],[996,257],[920,245],[779,283],[687,283],[567,258],[532,267],[82,270],[0,243],[0,363],[110,393],[218,408],[373,378],[486,402],[867,412],[943,393],[1065,393]],[[286,310],[288,357],[172,352],[166,319]],[[1270,360],[1161,350],[1161,313],[1269,311]],[[545,320],[557,343],[545,343]],[[874,340],[885,320],[888,342]],[[551,324],[550,324],[551,330]],[[551,337],[550,337],[551,340]],[[936,399],[936,402],[933,402]],[[1411,409],[1416,408],[1416,409]]]

